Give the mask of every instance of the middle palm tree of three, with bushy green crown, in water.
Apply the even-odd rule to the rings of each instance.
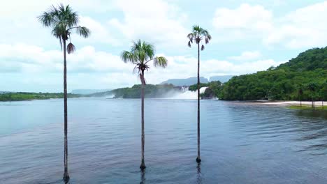
[[[131,51],[123,51],[121,54],[122,61],[125,63],[130,62],[135,65],[133,72],[138,72],[140,77],[140,81],[142,84],[141,87],[141,123],[142,123],[142,157],[140,169],[145,169],[144,162],[144,143],[145,143],[145,135],[144,135],[144,89],[145,89],[145,70],[149,70],[150,61],[153,61],[154,66],[160,66],[165,68],[167,66],[167,59],[163,56],[154,56],[154,46],[150,43],[142,42],[138,40],[137,42],[133,42],[131,46]]]

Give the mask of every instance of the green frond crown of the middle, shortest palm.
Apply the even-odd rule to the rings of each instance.
[[[125,63],[131,62],[135,66],[134,71],[139,74],[150,68],[149,62],[153,61],[154,66],[165,68],[167,66],[167,59],[163,56],[154,56],[154,46],[150,43],[138,40],[133,42],[131,51],[123,51],[121,54],[122,61]]]

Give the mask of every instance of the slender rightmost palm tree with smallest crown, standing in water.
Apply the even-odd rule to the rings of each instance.
[[[198,157],[196,162],[201,162],[200,157],[200,44],[201,51],[205,48],[202,41],[204,40],[205,44],[208,44],[211,40],[211,35],[209,32],[200,26],[193,26],[192,32],[187,35],[189,38],[189,47],[191,43],[195,42],[198,45]]]

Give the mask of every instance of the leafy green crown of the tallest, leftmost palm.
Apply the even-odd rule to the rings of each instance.
[[[51,6],[47,12],[38,16],[38,20],[44,26],[52,27],[52,35],[59,39],[62,48],[62,42],[71,40],[71,33],[75,31],[80,36],[87,38],[90,34],[89,29],[85,26],[79,26],[79,17],[76,12],[73,12],[69,5],[60,4],[58,7]],[[67,52],[71,54],[75,51],[75,46],[71,43],[67,45]]]

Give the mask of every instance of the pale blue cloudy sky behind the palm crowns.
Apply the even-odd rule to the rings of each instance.
[[[63,91],[59,40],[37,20],[51,5],[71,5],[89,38],[73,34],[67,57],[68,91],[140,84],[120,59],[133,40],[145,40],[167,68],[151,66],[148,84],[196,77],[197,24],[212,40],[201,52],[201,76],[244,75],[278,66],[312,47],[326,47],[327,1],[316,0],[10,0],[0,2],[0,91]]]

